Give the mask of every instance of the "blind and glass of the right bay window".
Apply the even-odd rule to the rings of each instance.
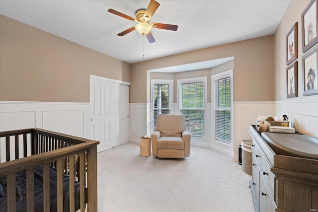
[[[231,142],[231,77],[215,80],[215,137]]]

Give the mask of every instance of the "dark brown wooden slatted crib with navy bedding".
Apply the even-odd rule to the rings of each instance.
[[[0,132],[0,211],[97,212],[98,143],[38,128]]]

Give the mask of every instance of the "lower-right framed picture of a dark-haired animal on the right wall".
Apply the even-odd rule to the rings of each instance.
[[[318,94],[318,46],[302,57],[303,96]]]

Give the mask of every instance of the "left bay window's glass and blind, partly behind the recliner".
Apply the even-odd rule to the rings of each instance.
[[[154,130],[156,130],[157,117],[160,114],[170,113],[170,84],[154,84]]]

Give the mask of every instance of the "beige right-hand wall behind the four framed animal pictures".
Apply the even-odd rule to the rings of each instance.
[[[302,19],[301,14],[309,4],[310,0],[292,0],[286,12],[277,27],[274,35],[275,46],[275,65],[274,65],[274,79],[275,79],[275,100],[286,100],[286,35],[289,30],[298,22],[298,98],[304,97],[304,87],[302,84],[302,57],[305,55],[302,52]],[[316,44],[317,46],[317,44]]]

